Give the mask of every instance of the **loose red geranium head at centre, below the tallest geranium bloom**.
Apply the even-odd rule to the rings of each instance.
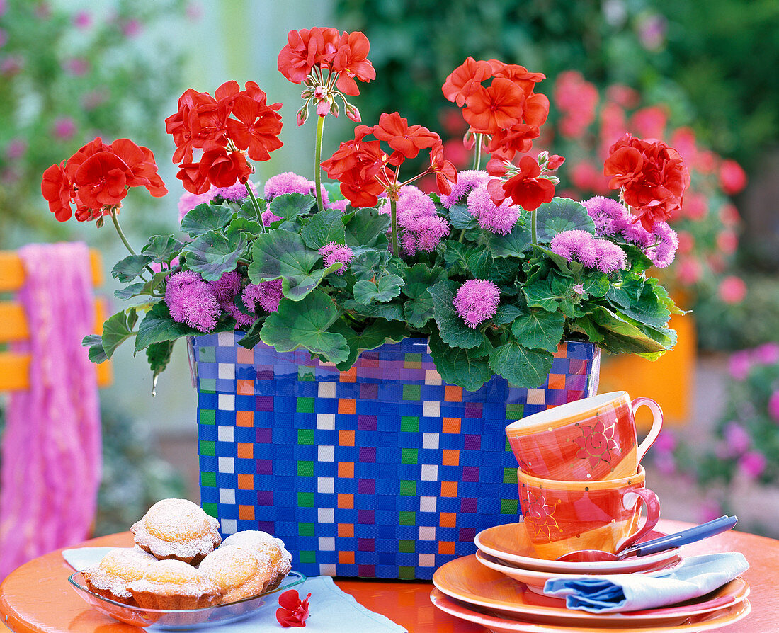
[[[372,134],[375,140],[365,140]],[[393,150],[386,153],[385,141]],[[403,183],[398,182],[398,168],[407,158],[416,158],[421,149],[430,149],[430,167],[423,174]],[[449,194],[451,183],[457,181],[453,164],[443,158],[441,138],[422,125],[408,125],[408,120],[397,112],[382,114],[373,127],[358,125],[354,140],[342,142],[330,159],[323,161],[323,169],[330,178],[340,181],[340,190],[352,206],[374,206],[382,192],[395,196],[402,185],[435,174],[439,192]],[[394,169],[393,169],[394,167]]]

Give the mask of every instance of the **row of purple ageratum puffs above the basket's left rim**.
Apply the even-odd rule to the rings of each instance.
[[[237,271],[224,273],[217,281],[206,282],[198,273],[185,270],[168,278],[165,303],[175,322],[186,323],[200,332],[211,332],[223,312],[235,319],[236,328],[252,325],[256,315],[246,314],[238,308],[236,297],[239,294],[241,276]],[[281,280],[274,280],[250,283],[241,300],[252,313],[257,311],[258,305],[266,312],[275,312],[281,297]]]

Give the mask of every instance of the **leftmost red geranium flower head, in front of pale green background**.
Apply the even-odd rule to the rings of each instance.
[[[68,220],[75,203],[76,220],[83,222],[110,215],[127,190],[139,186],[157,197],[167,193],[151,150],[129,139],[107,145],[98,137],[44,171],[41,192],[57,220]]]

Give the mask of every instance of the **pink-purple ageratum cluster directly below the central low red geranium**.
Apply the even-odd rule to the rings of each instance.
[[[400,188],[396,209],[400,252],[404,255],[435,251],[442,237],[449,235],[449,223],[436,212],[435,202],[414,185]],[[379,207],[379,213],[389,215],[389,201]]]

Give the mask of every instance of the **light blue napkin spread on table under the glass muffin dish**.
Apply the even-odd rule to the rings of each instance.
[[[82,571],[100,561],[114,547],[78,547],[63,550],[62,557],[68,564]],[[301,585],[295,586],[302,598],[311,593],[308,600],[310,615],[305,621],[305,631],[308,633],[343,633],[343,631],[362,631],[362,633],[407,633],[406,629],[395,624],[388,617],[376,614],[366,609],[354,597],[342,591],[330,576],[314,576],[306,578]],[[277,624],[276,610],[260,610],[256,615],[243,620],[229,622],[223,625],[209,627],[208,631],[221,633],[257,633],[265,630],[272,623],[273,631],[298,631],[299,629],[283,629]],[[347,628],[348,627],[348,628]]]

